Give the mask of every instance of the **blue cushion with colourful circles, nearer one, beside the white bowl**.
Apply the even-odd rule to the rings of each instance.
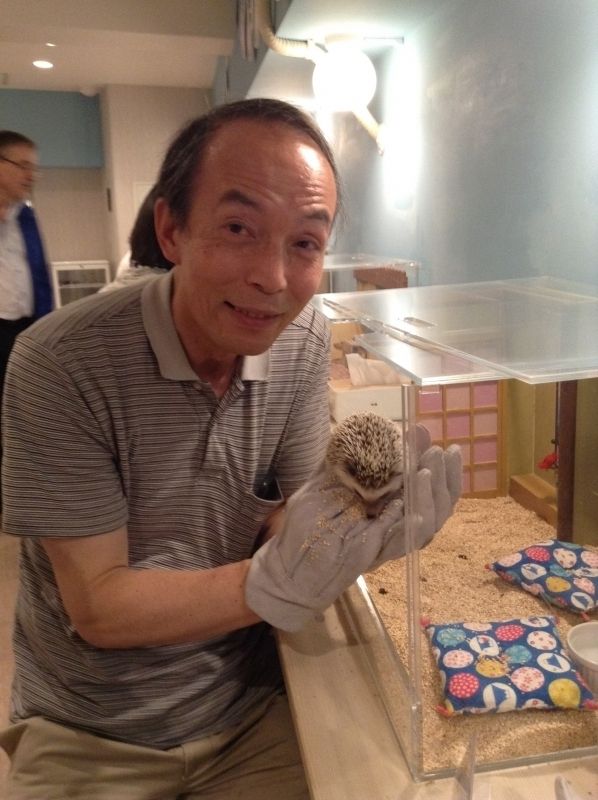
[[[446,716],[528,708],[598,709],[564,650],[555,617],[428,624]]]

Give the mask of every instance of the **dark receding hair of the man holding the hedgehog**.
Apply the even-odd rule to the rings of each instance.
[[[281,123],[312,140],[328,161],[341,206],[340,177],[328,142],[311,117],[290,103],[268,98],[238,100],[216,106],[185,125],[166,151],[158,181],[157,196],[164,198],[176,222],[185,226],[191,209],[193,186],[201,170],[207,147],[215,134],[239,119]],[[248,155],[251,158],[251,154]]]

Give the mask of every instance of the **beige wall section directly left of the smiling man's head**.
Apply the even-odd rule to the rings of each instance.
[[[113,267],[128,249],[139,184],[153,183],[176,131],[208,107],[203,89],[108,86],[103,90],[105,180],[112,202],[109,259]]]

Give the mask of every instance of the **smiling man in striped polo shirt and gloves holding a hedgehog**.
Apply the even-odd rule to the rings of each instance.
[[[307,798],[264,621],[300,627],[404,550],[400,503],[367,520],[308,480],[329,338],[307,304],[336,169],[297,109],[241,101],[180,132],[156,194],[172,271],[58,311],[11,357],[10,796]]]

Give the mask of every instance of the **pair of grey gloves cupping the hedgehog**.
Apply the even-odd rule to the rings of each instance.
[[[461,491],[461,450],[430,446],[417,426],[418,472],[410,520],[413,549],[424,547],[450,516]],[[420,455],[421,454],[421,455]],[[248,606],[286,631],[301,628],[363,572],[407,549],[403,500],[391,500],[371,519],[349,489],[333,483],[325,466],[286,504],[280,533],[253,556]]]

